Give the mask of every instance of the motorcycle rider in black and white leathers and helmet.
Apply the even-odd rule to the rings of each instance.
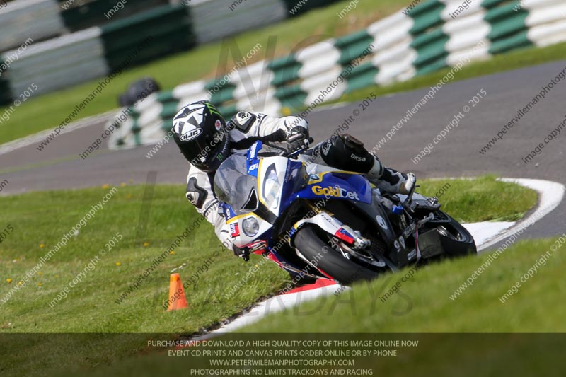
[[[308,146],[308,123],[301,117],[270,117],[259,112],[238,112],[226,124],[219,110],[205,100],[181,109],[173,118],[173,139],[190,163],[186,197],[214,226],[216,236],[234,255],[249,259],[247,250],[233,245],[229,226],[218,213],[214,195],[214,173],[231,153],[245,151],[255,141],[296,151]],[[412,173],[403,174],[385,168],[348,134],[333,134],[329,139],[304,152],[309,161],[340,170],[363,173],[382,191],[406,194],[415,185]]]

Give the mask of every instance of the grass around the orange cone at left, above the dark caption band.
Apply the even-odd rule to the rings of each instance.
[[[1,206],[7,215],[3,217],[10,219],[13,231],[1,243],[0,299],[23,280],[40,257],[56,248],[64,234],[109,190],[35,192],[2,198]],[[179,246],[175,245],[172,253],[163,256],[164,260],[137,289],[117,303],[140,274],[154,264],[154,259],[167,251],[187,226],[194,224],[197,216],[183,198],[181,186],[156,186],[151,202],[144,202],[143,186],[117,187],[103,209],[66,246],[52,254],[30,283],[16,291],[7,303],[0,303],[2,331],[197,332],[240,312],[284,282],[284,274],[275,266],[266,265],[253,284],[246,285],[238,296],[221,299],[224,290],[236,284],[238,274],[247,272],[249,266],[233,258],[231,251],[222,250],[212,227],[202,222],[180,240]],[[140,219],[141,223],[147,219],[147,223],[139,225]],[[147,232],[140,236],[144,228]],[[116,233],[123,238],[108,250],[105,245]],[[105,250],[104,256],[100,249]],[[93,260],[93,267],[87,269],[82,282],[70,286]],[[202,267],[206,260],[212,262]],[[191,309],[166,313],[162,306],[168,297],[168,277],[171,269],[182,265],[178,272],[184,282],[202,267],[198,279],[186,291]],[[213,278],[219,275],[222,279]],[[50,306],[65,287],[69,288],[67,297]]]

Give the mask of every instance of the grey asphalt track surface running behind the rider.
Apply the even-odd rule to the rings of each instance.
[[[554,86],[546,98],[535,105],[490,151],[484,155],[479,152],[565,66],[566,61],[553,62],[449,83],[393,135],[378,155],[386,166],[414,171],[419,178],[495,173],[504,177],[536,178],[566,184],[566,129],[562,130],[558,139],[546,144],[543,152],[531,163],[521,161],[565,119],[566,81]],[[468,101],[482,89],[487,92],[485,99],[472,108]],[[307,117],[311,136],[316,141],[322,141],[335,132],[345,118],[354,114],[354,110],[360,110],[347,132],[364,141],[366,147],[371,149],[428,91],[429,88],[425,88],[378,98],[363,111],[354,103],[312,112]],[[446,139],[434,144],[434,137],[465,105],[470,105],[466,117],[451,130]],[[81,159],[79,153],[100,137],[103,129],[104,124],[98,122],[91,127],[60,135],[43,151],[38,151],[37,144],[33,144],[0,155],[0,172],[4,172],[0,173],[0,181],[9,182],[0,195],[119,185],[130,180],[144,183],[150,171],[157,172],[158,183],[185,182],[187,163],[173,141],[151,158],[146,158],[151,146],[110,151],[103,144],[95,154]],[[415,165],[411,158],[429,143],[434,144],[434,149]],[[171,192],[171,195],[183,195],[183,192]],[[566,231],[565,219],[566,204],[562,202],[552,213],[529,227],[523,237],[560,235]]]

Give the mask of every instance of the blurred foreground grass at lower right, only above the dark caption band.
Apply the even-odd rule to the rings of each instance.
[[[384,302],[407,270],[269,315],[241,332],[566,332],[566,303],[560,299],[566,293],[560,283],[566,256],[560,248],[533,277],[520,281],[556,242],[529,240],[505,250],[459,296],[454,292],[488,263],[489,253],[417,269]],[[519,290],[499,301],[516,282]]]

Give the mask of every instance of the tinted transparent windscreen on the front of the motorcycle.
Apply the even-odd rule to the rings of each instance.
[[[258,181],[247,172],[246,156],[233,154],[214,175],[214,194],[221,202],[229,204],[236,214],[245,214],[258,207]]]

